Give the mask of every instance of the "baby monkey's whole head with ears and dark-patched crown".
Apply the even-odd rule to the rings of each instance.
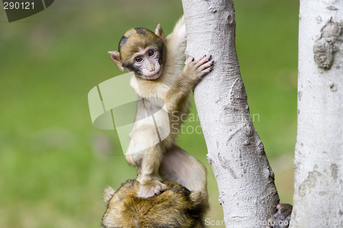
[[[165,63],[165,37],[158,24],[155,33],[136,28],[126,31],[118,51],[108,51],[110,58],[123,71],[134,71],[137,77],[154,80],[161,76]]]

